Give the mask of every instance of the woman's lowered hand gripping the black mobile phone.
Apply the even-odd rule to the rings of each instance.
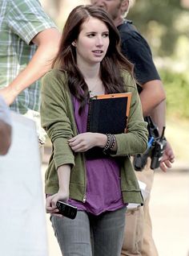
[[[61,216],[60,214],[58,214],[59,211],[56,207],[56,203],[58,202],[58,200],[62,200],[66,202],[68,198],[69,198],[69,192],[60,192],[60,191],[58,191],[58,193],[52,196],[46,197],[46,213]]]

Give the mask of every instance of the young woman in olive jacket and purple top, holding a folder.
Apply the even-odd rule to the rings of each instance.
[[[131,92],[127,134],[86,132],[90,96]],[[147,149],[147,127],[132,65],[119,52],[119,34],[108,14],[94,6],[71,11],[54,60],[42,81],[42,126],[53,145],[46,171],[46,212],[64,256],[119,256],[127,203],[143,204],[129,155]],[[78,207],[74,220],[58,217],[56,203]]]

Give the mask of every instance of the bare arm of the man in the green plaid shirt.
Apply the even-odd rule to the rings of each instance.
[[[51,68],[52,60],[58,52],[61,34],[56,28],[49,28],[41,31],[32,39],[38,48],[30,63],[26,68],[18,74],[18,76],[10,83],[8,87],[0,90],[8,105],[10,105],[15,97],[22,92],[23,89],[29,87],[34,81],[37,81]]]

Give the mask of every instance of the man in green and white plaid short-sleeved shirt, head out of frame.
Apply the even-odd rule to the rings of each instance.
[[[38,79],[50,70],[60,33],[38,0],[0,3],[0,95],[10,109],[38,118]],[[42,142],[44,133],[38,129]]]

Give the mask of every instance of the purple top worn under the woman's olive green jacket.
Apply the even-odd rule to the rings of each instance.
[[[79,102],[73,97],[74,118],[78,133],[86,132],[88,105],[78,114]],[[119,163],[113,158],[86,159],[86,202],[69,199],[68,202],[94,215],[122,208],[123,204]]]

